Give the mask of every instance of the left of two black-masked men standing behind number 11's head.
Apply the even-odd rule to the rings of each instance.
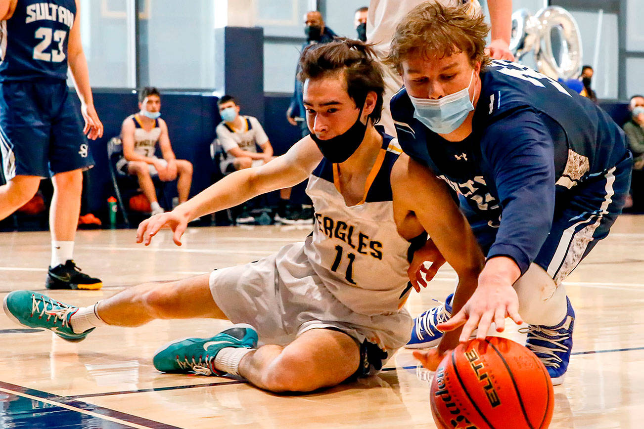
[[[307,41],[302,45],[302,50],[308,45],[316,43],[327,43],[336,37],[336,33],[328,28],[322,14],[318,10],[311,10],[304,15],[304,33],[307,36]],[[302,102],[302,82],[299,82],[297,75],[299,73],[299,66],[296,69],[295,89],[293,91],[293,98],[290,101],[289,109],[286,111],[286,118],[291,125],[299,126],[302,132],[302,137],[309,134],[307,122],[304,120],[306,116],[306,109]]]

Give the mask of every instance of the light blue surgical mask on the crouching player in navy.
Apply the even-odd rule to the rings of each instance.
[[[469,86],[472,80],[474,80],[474,71],[466,88],[438,100],[415,98],[410,95],[409,98],[415,109],[413,117],[437,134],[450,134],[460,127],[469,112],[474,110],[472,104],[474,98],[469,99]]]

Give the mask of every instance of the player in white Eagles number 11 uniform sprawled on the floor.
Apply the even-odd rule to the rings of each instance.
[[[399,156],[395,139],[374,127],[383,78],[372,55],[348,39],[307,48],[299,78],[310,136],[265,165],[232,172],[137,232],[147,245],[169,226],[181,244],[191,219],[308,178],[316,224],[304,242],[251,264],[135,286],[81,309],[35,292],[12,293],[8,315],[69,340],[97,326],[155,318],[229,319],[240,325],[171,343],[156,354],[155,367],[235,374],[274,392],[306,392],[380,370],[410,336],[403,307],[412,287],[408,255],[420,249],[413,267],[424,261],[425,231],[459,274],[457,301],[475,289],[483,256],[444,183]],[[429,209],[417,216],[420,205]],[[55,317],[31,317],[34,301]],[[257,347],[258,336],[265,345]],[[451,347],[457,334],[443,341]]]

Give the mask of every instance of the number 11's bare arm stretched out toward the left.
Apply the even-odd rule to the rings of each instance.
[[[189,221],[240,205],[266,192],[297,185],[308,177],[321,160],[322,154],[316,143],[307,136],[269,163],[233,172],[176,206],[172,212],[146,219],[138,226],[137,242],[147,246],[161,228],[169,226],[175,232],[175,243],[180,245],[181,235]]]

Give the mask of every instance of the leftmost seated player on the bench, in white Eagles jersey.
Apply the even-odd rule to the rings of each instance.
[[[193,180],[193,165],[186,160],[177,160],[170,145],[166,121],[161,116],[161,96],[155,87],[145,87],[138,93],[140,111],[131,114],[121,126],[123,158],[117,161],[121,174],[137,176],[138,185],[150,201],[152,215],[163,213],[164,209],[156,199],[153,176],[162,181],[172,181],[178,177],[178,203],[188,199]],[[155,155],[159,143],[163,158]],[[171,208],[171,207],[169,207]]]

